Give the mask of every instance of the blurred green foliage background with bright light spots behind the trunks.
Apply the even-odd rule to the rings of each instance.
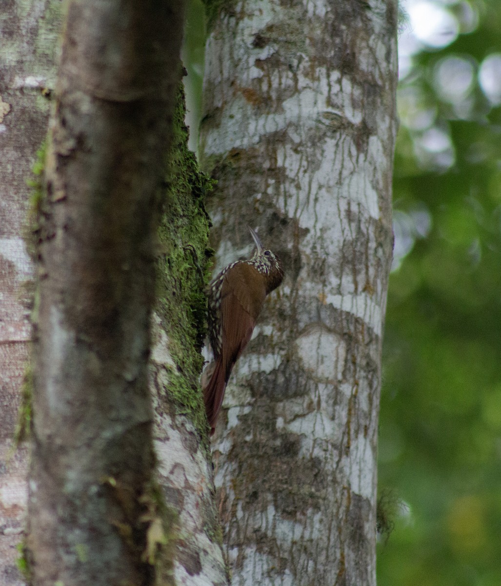
[[[379,438],[380,495],[393,502],[387,520],[394,530],[378,545],[378,584],[499,586],[501,110],[484,95],[478,71],[485,57],[501,53],[501,2],[427,1],[458,21],[468,11],[475,19],[448,45],[423,45],[399,86],[396,260]],[[400,35],[410,26],[407,4]],[[195,96],[188,101],[192,135],[202,14],[200,0],[191,0],[184,61]],[[461,100],[454,91],[444,95],[441,65],[451,58],[471,66]],[[445,146],[424,148],[430,131]]]

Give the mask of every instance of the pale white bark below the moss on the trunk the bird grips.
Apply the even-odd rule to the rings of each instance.
[[[207,445],[190,418],[179,414],[172,417],[165,408],[169,403],[169,380],[178,373],[169,337],[156,314],[152,326],[150,387],[157,470],[166,502],[178,515],[174,579],[184,586],[227,584],[227,567],[217,539],[218,517]]]

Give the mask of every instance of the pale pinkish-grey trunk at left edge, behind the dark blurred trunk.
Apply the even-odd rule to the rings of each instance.
[[[22,584],[16,546],[23,539],[28,450],[15,451],[13,437],[29,355],[33,274],[22,233],[26,179],[47,132],[60,8],[60,0],[13,0],[0,9],[0,586]]]

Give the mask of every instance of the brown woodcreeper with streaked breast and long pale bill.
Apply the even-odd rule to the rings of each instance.
[[[251,260],[229,264],[208,289],[208,329],[215,363],[204,387],[204,402],[211,435],[231,370],[251,339],[266,295],[280,285],[284,274],[276,255],[249,230],[257,249]]]

